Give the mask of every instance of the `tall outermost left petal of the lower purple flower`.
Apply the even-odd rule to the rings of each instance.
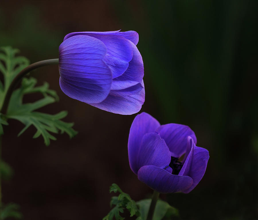
[[[131,170],[137,175],[138,152],[142,137],[154,132],[160,126],[159,122],[146,112],[138,114],[132,122],[128,138],[128,157]]]

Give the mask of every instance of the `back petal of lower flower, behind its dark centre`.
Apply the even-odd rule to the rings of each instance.
[[[183,124],[164,124],[157,132],[166,141],[171,152],[171,157],[181,157],[187,148],[187,137],[191,136],[194,143],[197,142],[194,132]]]

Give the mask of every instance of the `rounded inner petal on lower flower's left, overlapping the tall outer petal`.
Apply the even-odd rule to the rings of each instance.
[[[142,166],[146,165],[165,168],[169,166],[170,161],[170,151],[165,141],[155,132],[147,133],[142,137],[138,151],[138,166],[133,169],[138,171]]]

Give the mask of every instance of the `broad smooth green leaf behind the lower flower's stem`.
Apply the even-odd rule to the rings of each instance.
[[[142,217],[142,220],[147,219],[147,215],[150,209],[150,203],[151,199],[143,199],[138,202],[136,202],[137,205],[140,207],[140,216]],[[162,200],[158,200],[152,220],[161,220],[164,217],[170,219],[172,216],[179,216],[179,212],[176,208],[170,206],[167,202],[164,202]]]

